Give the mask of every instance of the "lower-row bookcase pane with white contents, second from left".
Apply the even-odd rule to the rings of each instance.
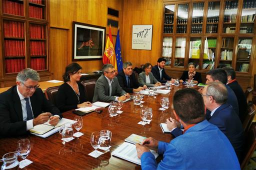
[[[175,42],[175,57],[174,57],[175,67],[184,67],[185,46],[186,46],[186,38],[177,37]]]

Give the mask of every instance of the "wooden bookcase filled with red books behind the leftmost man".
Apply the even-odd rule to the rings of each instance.
[[[15,77],[26,67],[45,75],[48,72],[48,1],[1,0],[0,3],[2,79]]]

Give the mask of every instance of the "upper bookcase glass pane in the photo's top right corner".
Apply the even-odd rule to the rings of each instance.
[[[240,33],[253,33],[253,26],[256,13],[255,0],[243,0]]]

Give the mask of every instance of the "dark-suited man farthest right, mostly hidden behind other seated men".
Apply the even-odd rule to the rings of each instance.
[[[247,110],[247,100],[245,97],[245,94],[241,88],[241,86],[238,84],[238,82],[235,79],[235,71],[232,67],[230,66],[225,66],[223,69],[226,71],[227,74],[227,85],[234,91],[237,101],[238,101],[238,106],[239,106],[239,118],[241,122],[244,121],[245,116],[248,113]]]

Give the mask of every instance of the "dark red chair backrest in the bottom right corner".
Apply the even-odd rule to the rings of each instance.
[[[241,169],[248,164],[252,153],[256,149],[256,126],[249,129],[247,135],[245,136],[244,150],[242,154]]]

